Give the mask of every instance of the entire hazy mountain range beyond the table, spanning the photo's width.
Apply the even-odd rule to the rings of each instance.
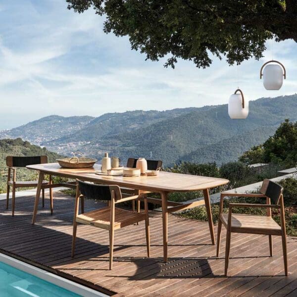
[[[5,133],[32,143],[44,139],[39,144],[52,151],[69,154],[80,150],[99,160],[108,151],[123,160],[143,156],[162,159],[165,165],[179,160],[216,161],[220,165],[263,143],[285,118],[296,121],[297,95],[250,101],[245,120],[230,119],[227,104],[165,111],[135,110],[96,118],[51,117]],[[45,134],[47,129],[40,128],[45,127],[45,122],[51,123],[49,138]]]

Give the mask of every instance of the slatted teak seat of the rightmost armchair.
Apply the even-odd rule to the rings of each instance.
[[[221,215],[222,223],[228,225],[228,214]],[[281,235],[282,228],[270,216],[254,214],[232,214],[231,232]],[[246,232],[245,232],[246,231]]]

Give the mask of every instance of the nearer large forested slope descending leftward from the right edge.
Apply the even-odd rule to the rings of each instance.
[[[166,165],[172,165],[183,156],[198,161],[194,156],[191,157],[192,152],[195,155],[197,150],[204,148],[211,155],[211,149],[217,144],[224,144],[221,155],[229,156],[217,157],[216,161],[220,164],[227,159],[236,160],[246,148],[267,139],[266,128],[271,135],[285,118],[297,120],[297,95],[251,101],[250,114],[246,120],[230,119],[227,108],[227,104],[203,110],[198,108],[146,128],[106,135],[101,142],[90,143],[82,147],[82,150],[99,159],[104,151],[109,151],[122,159],[128,156],[153,157],[162,159]],[[247,132],[249,133],[245,140]],[[261,133],[262,136],[259,137]],[[240,138],[233,138],[241,135]],[[234,142],[240,142],[237,143],[236,150],[232,148]]]

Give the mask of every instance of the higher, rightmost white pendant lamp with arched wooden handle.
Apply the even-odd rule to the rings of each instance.
[[[267,65],[268,63],[278,63],[279,65]],[[283,85],[283,78],[286,79],[286,68],[281,62],[276,60],[270,60],[264,63],[261,67],[260,79],[262,78],[262,76],[263,85],[266,90],[279,90]]]

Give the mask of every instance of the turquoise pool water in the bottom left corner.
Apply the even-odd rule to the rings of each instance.
[[[79,297],[75,293],[0,262],[0,297]]]

